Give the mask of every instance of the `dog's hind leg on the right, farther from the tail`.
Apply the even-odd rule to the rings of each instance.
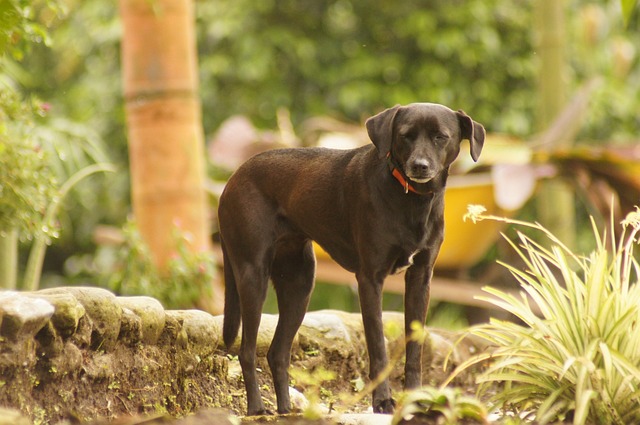
[[[271,280],[278,297],[280,317],[267,360],[278,400],[278,413],[291,410],[289,364],[291,346],[309,305],[315,277],[311,241],[288,241],[278,247]]]

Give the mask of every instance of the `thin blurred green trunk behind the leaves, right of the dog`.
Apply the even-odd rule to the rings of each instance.
[[[538,76],[538,129],[546,130],[562,112],[566,103],[564,51],[564,7],[562,0],[535,2]],[[550,149],[570,147],[562,140]],[[575,200],[572,189],[559,179],[542,183],[537,200],[540,222],[567,246],[575,247]]]

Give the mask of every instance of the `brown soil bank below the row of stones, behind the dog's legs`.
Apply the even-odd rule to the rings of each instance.
[[[298,347],[293,355],[294,368],[310,371],[312,376],[313,371],[326,369],[335,372],[336,378],[298,382],[294,384],[295,389],[307,397],[317,394],[318,402],[333,413],[369,411],[369,396],[354,399],[358,383],[366,380],[368,365],[362,354],[350,353],[345,357],[314,347]],[[68,357],[71,362],[75,361],[72,357]],[[94,359],[85,357],[82,361],[90,366],[80,373],[61,372],[68,369],[68,365],[61,363],[42,363],[35,370],[2,369],[3,381],[9,384],[3,388],[0,403],[20,406],[34,424],[218,424],[224,423],[220,420],[228,414],[241,416],[246,412],[239,363],[221,351],[197,359],[178,347],[166,352],[158,347],[119,345],[109,354]],[[258,359],[258,367],[265,405],[276,411],[272,380],[264,357]],[[438,371],[430,372],[433,377]],[[402,389],[401,377],[401,367],[395,368],[391,374],[394,392]],[[199,416],[187,417],[194,412],[200,412]],[[212,417],[216,422],[211,422]],[[266,419],[251,418],[250,421]],[[298,416],[280,417],[278,421],[305,422]],[[420,423],[437,422],[423,420]]]

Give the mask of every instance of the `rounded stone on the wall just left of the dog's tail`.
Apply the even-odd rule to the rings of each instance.
[[[201,310],[169,310],[168,317],[182,322],[189,349],[201,357],[212,354],[221,338],[221,329],[212,315]]]

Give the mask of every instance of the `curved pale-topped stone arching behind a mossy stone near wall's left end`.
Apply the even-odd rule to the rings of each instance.
[[[60,287],[43,289],[44,294],[72,294],[91,319],[91,348],[111,351],[120,334],[122,307],[115,295],[106,289],[91,287]]]

